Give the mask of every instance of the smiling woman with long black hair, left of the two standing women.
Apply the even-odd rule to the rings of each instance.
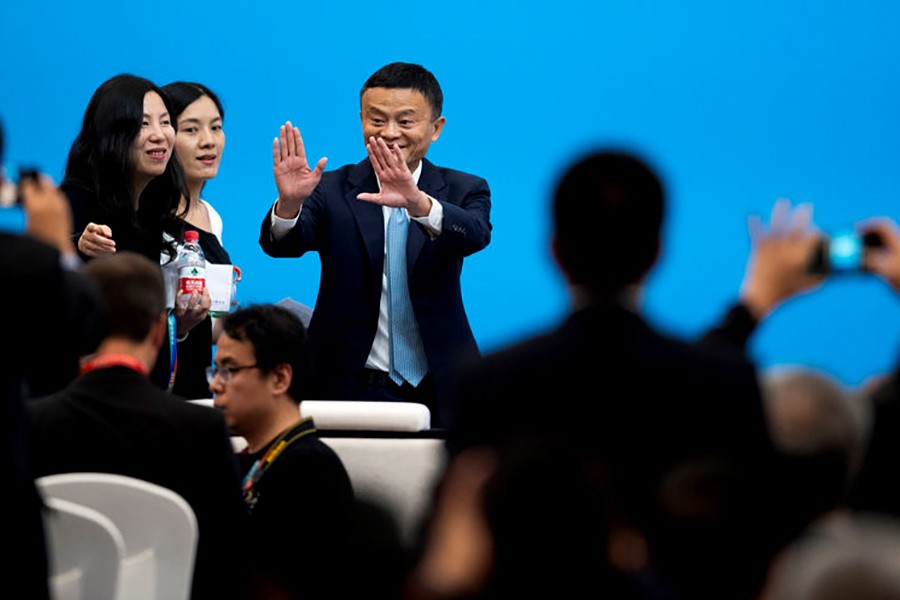
[[[116,75],[94,91],[60,186],[84,259],[123,250],[162,264],[175,259],[190,194],[179,161],[172,160],[173,112],[162,89],[142,77]],[[208,292],[184,302],[176,297],[168,343],[151,371],[158,386],[174,385],[177,340],[206,319],[210,303]]]

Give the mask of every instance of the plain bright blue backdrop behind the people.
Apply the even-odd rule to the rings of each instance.
[[[378,67],[438,77],[447,126],[435,163],[485,177],[494,236],[463,289],[484,350],[556,323],[567,308],[547,249],[548,193],[581,150],[643,154],[670,198],[646,314],[677,335],[736,296],[746,219],[778,197],[810,201],[826,231],[894,214],[900,190],[900,6],[621,2],[12,2],[0,5],[6,160],[57,181],[94,89],[120,72],[207,84],[227,147],[204,197],[225,221],[244,303],[312,305],[316,256],[257,245],[276,196],[271,142],[292,120],[314,161],[364,156],[358,91]],[[767,321],[763,366],[805,363],[848,384],[889,368],[900,303],[880,281],[833,278]]]

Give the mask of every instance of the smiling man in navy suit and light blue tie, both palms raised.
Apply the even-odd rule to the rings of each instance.
[[[290,122],[273,145],[279,198],[260,245],[271,256],[317,251],[322,261],[310,397],[422,402],[439,424],[446,367],[478,353],[460,273],[463,258],[490,242],[490,191],[479,177],[425,159],[444,127],[442,103],[429,71],[392,63],[360,92],[367,160],[325,173],[322,158],[310,168]],[[405,253],[394,254],[405,257],[400,267],[391,266],[392,214],[408,227]],[[402,281],[391,278],[398,270]],[[396,330],[405,321],[391,316],[398,300],[414,314],[405,333]],[[405,358],[395,354],[401,340],[411,348]],[[401,363],[410,357],[416,366],[407,373]]]

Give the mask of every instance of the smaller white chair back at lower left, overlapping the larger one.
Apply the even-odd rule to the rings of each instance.
[[[114,600],[125,541],[113,522],[86,506],[47,498],[44,527],[50,597]]]

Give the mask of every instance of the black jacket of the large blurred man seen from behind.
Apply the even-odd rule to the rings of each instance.
[[[757,526],[769,520],[757,500],[767,496],[775,455],[755,369],[739,350],[687,344],[620,306],[597,304],[460,367],[452,401],[459,412],[448,431],[451,455],[547,436],[597,459],[613,514],[644,531],[684,597],[705,597],[708,588],[698,585],[727,585],[721,593],[760,584],[780,543],[776,532]],[[676,474],[700,485],[671,488],[666,482]],[[680,504],[666,490],[690,495],[713,487],[722,491],[715,504],[721,512],[698,512],[700,527],[659,509]]]

